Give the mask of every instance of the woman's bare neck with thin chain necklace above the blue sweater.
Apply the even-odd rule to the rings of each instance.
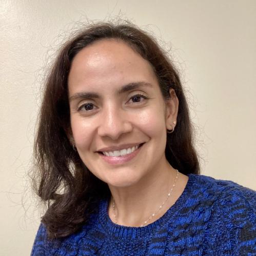
[[[109,203],[110,219],[119,225],[131,227],[139,227],[145,221],[148,225],[159,219],[172,202],[172,193],[170,196],[168,193],[171,188],[175,189],[173,183],[176,175],[177,171],[166,161],[163,166],[148,173],[143,181],[133,186],[125,188],[109,186],[112,194]],[[160,208],[164,202],[165,204]],[[153,213],[154,215],[150,218]]]

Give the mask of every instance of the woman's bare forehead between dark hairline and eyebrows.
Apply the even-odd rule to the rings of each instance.
[[[68,77],[71,92],[85,87],[111,89],[137,81],[157,84],[150,63],[126,43],[109,39],[78,52]]]

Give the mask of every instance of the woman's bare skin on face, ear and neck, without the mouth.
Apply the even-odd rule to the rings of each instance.
[[[119,92],[138,82],[149,85]],[[117,223],[140,226],[165,200],[176,177],[165,157],[166,129],[175,126],[179,107],[174,90],[170,90],[171,97],[165,101],[150,63],[116,40],[95,42],[77,53],[68,77],[68,90],[71,143],[75,143],[88,169],[108,184],[118,212]],[[96,95],[82,96],[89,92]],[[134,97],[137,94],[143,96]],[[123,164],[106,163],[97,152],[129,143],[145,144],[132,160]],[[179,174],[172,195],[151,222],[175,203],[187,180],[186,175]],[[109,216],[114,222],[111,204]]]

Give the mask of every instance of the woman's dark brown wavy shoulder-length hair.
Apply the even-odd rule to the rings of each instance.
[[[68,138],[71,128],[67,80],[72,60],[84,47],[104,38],[127,43],[152,65],[164,99],[170,96],[170,88],[175,90],[179,112],[175,131],[167,133],[166,158],[184,174],[200,172],[180,77],[156,40],[130,23],[87,26],[58,52],[46,79],[38,115],[33,187],[48,206],[42,223],[49,238],[66,237],[80,229],[97,208],[97,202],[110,196],[108,185],[88,170]]]

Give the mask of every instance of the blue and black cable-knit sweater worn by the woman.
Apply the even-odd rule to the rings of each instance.
[[[81,231],[48,241],[41,224],[31,255],[256,255],[256,192],[189,174],[175,204],[145,227],[114,224],[108,202]]]

